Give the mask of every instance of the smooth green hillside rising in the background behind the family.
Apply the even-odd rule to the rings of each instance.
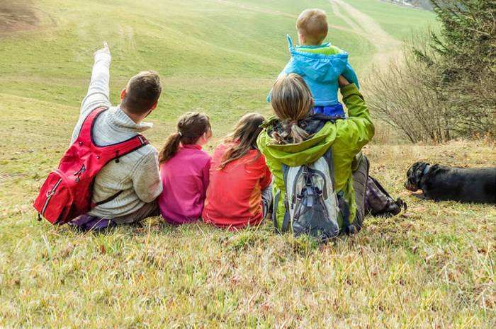
[[[152,68],[166,82],[162,106],[154,112],[160,119],[191,108],[222,120],[225,108],[266,112],[266,91],[288,59],[286,33],[296,37],[295,17],[310,6],[325,8],[329,22],[341,28],[331,29],[329,40],[350,53],[359,73],[373,58],[372,42],[335,18],[328,1],[245,2],[128,0],[116,7],[112,1],[37,1],[40,15],[52,16],[57,26],[2,37],[0,90],[76,107],[91,54],[107,40],[113,100],[130,75]],[[424,14],[415,13],[411,20],[425,23]]]

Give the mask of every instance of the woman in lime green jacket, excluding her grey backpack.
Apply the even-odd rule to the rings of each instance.
[[[322,115],[313,115],[312,95],[298,74],[282,76],[274,83],[271,105],[276,117],[264,124],[257,142],[274,175],[273,219],[279,230],[285,212],[281,165],[301,166],[315,162],[329,147],[332,147],[334,162],[334,190],[342,192],[349,205],[351,233],[361,229],[365,217],[368,160],[360,151],[372,139],[374,127],[355,84],[339,76],[339,88],[349,117],[332,121]],[[342,227],[341,215],[338,223]]]

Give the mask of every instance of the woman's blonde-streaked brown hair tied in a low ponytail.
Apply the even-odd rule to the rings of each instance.
[[[283,132],[273,133],[278,144],[300,143],[309,135],[298,122],[312,115],[312,93],[298,74],[281,76],[272,87],[271,105],[282,122]]]

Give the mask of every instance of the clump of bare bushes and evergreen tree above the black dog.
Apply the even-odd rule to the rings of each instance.
[[[491,4],[492,3],[492,4]],[[496,136],[496,6],[432,0],[441,30],[369,83],[371,109],[411,142]]]

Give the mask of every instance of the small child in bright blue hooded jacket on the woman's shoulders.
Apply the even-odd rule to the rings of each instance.
[[[337,79],[343,75],[359,86],[358,78],[348,63],[348,54],[324,42],[327,37],[327,17],[324,11],[308,9],[296,22],[299,46],[293,46],[288,36],[291,59],[281,74],[295,73],[303,77],[312,92],[314,112],[327,116],[345,116],[337,98]],[[268,100],[270,101],[270,94]]]

